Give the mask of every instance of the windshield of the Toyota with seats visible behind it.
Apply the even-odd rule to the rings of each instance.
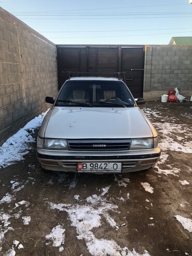
[[[121,81],[70,80],[61,89],[55,105],[130,107],[134,103]]]

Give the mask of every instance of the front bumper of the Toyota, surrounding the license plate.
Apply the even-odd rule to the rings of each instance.
[[[160,148],[149,150],[118,152],[77,152],[56,151],[37,148],[37,158],[45,170],[77,172],[78,162],[121,162],[122,172],[147,170],[154,167],[160,157]],[[153,164],[143,164],[144,160],[154,160]],[[42,163],[46,163],[43,164]],[[48,161],[50,161],[49,164]],[[54,165],[57,164],[57,165]],[[115,171],[85,171],[90,173],[115,173]]]

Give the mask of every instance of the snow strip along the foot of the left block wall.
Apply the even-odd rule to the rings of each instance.
[[[0,147],[0,169],[7,167],[15,161],[23,160],[23,156],[29,152],[29,143],[34,142],[31,133],[42,124],[48,111],[32,119],[17,133],[7,139]]]

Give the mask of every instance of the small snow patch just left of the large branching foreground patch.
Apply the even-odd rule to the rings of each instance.
[[[46,239],[52,240],[53,247],[59,247],[59,251],[64,250],[64,241],[65,241],[65,229],[59,224],[56,227],[53,227],[51,233],[45,236]],[[49,245],[50,242],[47,242]]]

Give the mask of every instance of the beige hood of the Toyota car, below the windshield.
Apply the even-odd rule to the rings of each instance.
[[[153,137],[138,107],[53,107],[45,138],[119,139]]]

